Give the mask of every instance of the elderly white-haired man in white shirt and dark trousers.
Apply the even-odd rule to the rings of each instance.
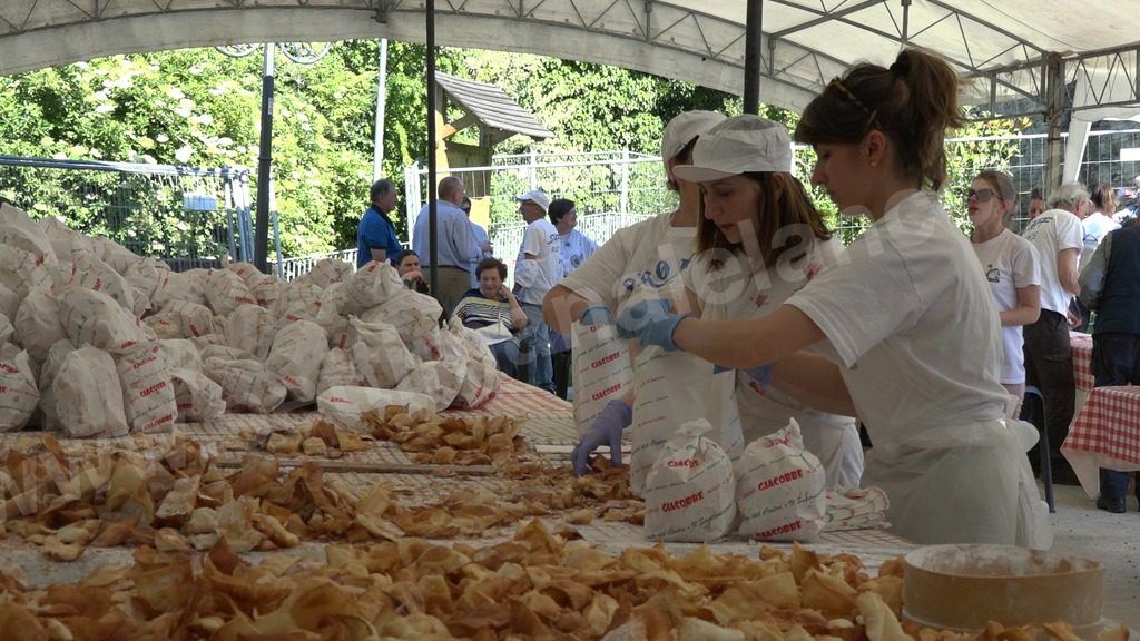
[[[1073,297],[1081,293],[1081,218],[1089,205],[1089,192],[1083,185],[1061,185],[1049,195],[1048,209],[1021,234],[1041,259],[1041,316],[1025,326],[1025,384],[1036,387],[1044,397],[1053,479],[1067,485],[1076,485],[1073,469],[1060,455],[1075,403],[1068,310]]]

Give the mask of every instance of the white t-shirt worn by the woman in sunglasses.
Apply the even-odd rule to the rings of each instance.
[[[990,283],[990,293],[997,303],[997,311],[1007,311],[1018,306],[1017,290],[1041,284],[1037,271],[1037,250],[1029,241],[1009,229],[1002,229],[984,243],[970,243],[982,262],[982,273]],[[1001,382],[1019,384],[1025,382],[1025,341],[1020,325],[1001,328],[1005,357],[1002,360]]]

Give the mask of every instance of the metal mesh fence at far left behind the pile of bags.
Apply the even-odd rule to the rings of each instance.
[[[252,260],[250,172],[0,155],[0,195],[33,218],[165,259],[173,269]]]

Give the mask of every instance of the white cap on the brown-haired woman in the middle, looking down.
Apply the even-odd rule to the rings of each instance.
[[[746,171],[790,173],[791,138],[784,125],[752,114],[730,117],[701,135],[692,164],[673,168],[689,182],[719,180]]]

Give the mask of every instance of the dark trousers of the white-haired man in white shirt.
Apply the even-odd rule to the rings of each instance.
[[[1068,340],[1068,319],[1050,309],[1025,326],[1025,384],[1041,390],[1045,399],[1045,429],[1049,431],[1049,455],[1061,459],[1061,444],[1068,437],[1076,403],[1073,380],[1073,351]]]

